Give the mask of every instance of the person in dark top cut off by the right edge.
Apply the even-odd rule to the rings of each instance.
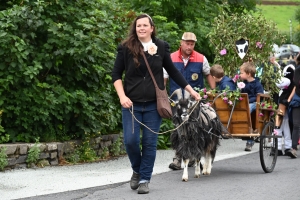
[[[292,131],[292,149],[289,156],[291,158],[297,158],[297,146],[300,134],[300,55],[295,58],[296,68],[293,78],[294,88],[291,95],[288,98],[289,102],[289,119],[293,124]]]

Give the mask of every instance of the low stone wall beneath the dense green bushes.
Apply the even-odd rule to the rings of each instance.
[[[103,135],[101,137],[92,138],[90,144],[99,156],[105,147],[111,146],[119,137],[119,134]],[[81,140],[39,143],[38,147],[41,150],[39,163],[42,166],[59,165],[62,158],[72,154],[76,147],[81,144]],[[0,148],[6,147],[8,165],[5,167],[5,170],[26,168],[28,151],[33,145],[33,143],[0,144]]]

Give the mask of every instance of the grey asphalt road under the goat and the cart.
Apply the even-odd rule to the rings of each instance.
[[[265,173],[260,164],[258,144],[253,152],[243,151],[244,141],[224,141],[217,152],[210,176],[193,178],[194,168],[189,168],[188,182],[182,182],[182,170],[153,175],[149,184],[149,194],[137,194],[130,189],[128,181],[115,182],[97,187],[76,189],[42,196],[24,198],[28,200],[58,200],[58,199],[264,199],[264,200],[299,200],[300,199],[300,158],[291,159],[280,156],[272,173]],[[298,151],[299,152],[299,151]],[[218,157],[219,153],[219,157]],[[170,157],[171,154],[168,155]],[[170,159],[164,161],[170,163]],[[161,161],[163,162],[163,161]],[[112,163],[111,163],[112,164]],[[117,161],[114,161],[117,164]],[[167,166],[165,166],[167,168]],[[130,179],[128,173],[118,174]],[[94,177],[94,179],[100,177]]]

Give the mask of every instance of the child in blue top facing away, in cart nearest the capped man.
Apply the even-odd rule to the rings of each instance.
[[[213,77],[216,82],[216,87],[219,90],[225,90],[226,87],[229,90],[236,90],[236,85],[234,81],[224,74],[224,70],[221,65],[215,64],[210,68],[210,75]]]

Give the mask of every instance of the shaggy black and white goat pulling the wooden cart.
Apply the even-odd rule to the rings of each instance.
[[[182,181],[188,181],[188,163],[196,161],[195,178],[201,174],[210,175],[219,139],[224,127],[215,110],[208,105],[193,100],[190,94],[175,90],[178,100],[173,101],[173,123],[177,128],[171,134],[172,148],[176,156],[182,158],[184,170]],[[201,160],[201,163],[200,163]]]

